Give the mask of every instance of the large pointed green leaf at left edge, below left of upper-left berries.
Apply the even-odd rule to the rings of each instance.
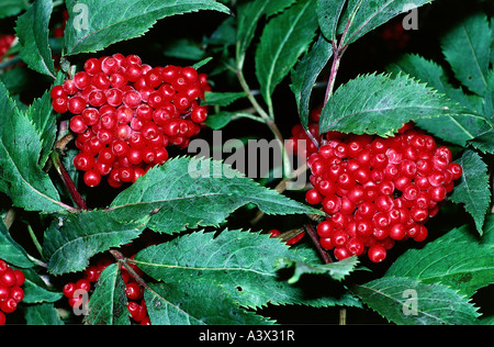
[[[38,165],[42,141],[35,125],[0,82],[0,191],[13,204],[46,213],[66,210],[58,192]]]

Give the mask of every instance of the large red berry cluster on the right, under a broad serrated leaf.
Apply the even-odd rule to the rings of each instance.
[[[379,262],[397,240],[424,240],[424,223],[461,177],[451,150],[411,126],[389,138],[334,133],[308,157],[305,198],[326,213],[317,234],[338,260],[367,251]]]

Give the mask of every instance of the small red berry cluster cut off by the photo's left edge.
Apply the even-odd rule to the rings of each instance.
[[[5,313],[12,313],[24,299],[25,276],[21,270],[12,269],[0,259],[0,325],[5,324]]]

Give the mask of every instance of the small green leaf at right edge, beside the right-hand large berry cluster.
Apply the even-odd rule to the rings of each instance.
[[[457,163],[463,168],[463,175],[450,199],[464,204],[465,211],[472,215],[476,230],[482,235],[485,214],[491,204],[487,165],[479,154],[470,149],[465,150]]]

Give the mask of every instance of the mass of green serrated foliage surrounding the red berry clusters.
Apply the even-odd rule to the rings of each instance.
[[[357,49],[372,54],[366,40],[381,40],[379,30],[392,20],[435,5],[431,0],[3,1],[0,18],[11,20],[10,33],[19,41],[0,61],[0,258],[26,277],[19,320],[130,325],[122,267],[136,266],[144,275],[131,276],[144,287],[155,325],[271,325],[284,318],[271,316],[272,307],[300,306],[316,313],[353,307],[364,318],[393,324],[492,324],[480,300],[494,283],[492,11],[474,1],[475,11],[437,37],[438,54],[379,52],[382,66],[370,71],[346,64]],[[65,9],[64,37],[53,37]],[[452,148],[463,175],[425,245],[390,251],[381,265],[358,257],[329,262],[311,227],[325,214],[305,203],[308,184],[287,190],[307,172],[304,163],[290,167],[284,147],[283,164],[270,163],[267,178],[249,178],[226,160],[177,148],[133,184],[85,187],[71,165],[69,115],[53,111],[49,91],[88,57],[120,49],[153,57],[159,66],[186,60],[209,75],[212,91],[202,104],[210,115],[199,137],[228,130],[231,137],[261,138],[266,126],[283,144],[295,123],[308,127],[317,104],[319,134],[389,137],[414,122]],[[254,128],[245,126],[251,121]],[[290,232],[271,237],[271,228],[303,230],[305,237],[289,246]],[[116,256],[131,246],[137,248],[132,257]],[[87,315],[75,316],[67,311],[64,283],[109,254],[115,261],[101,272]]]

